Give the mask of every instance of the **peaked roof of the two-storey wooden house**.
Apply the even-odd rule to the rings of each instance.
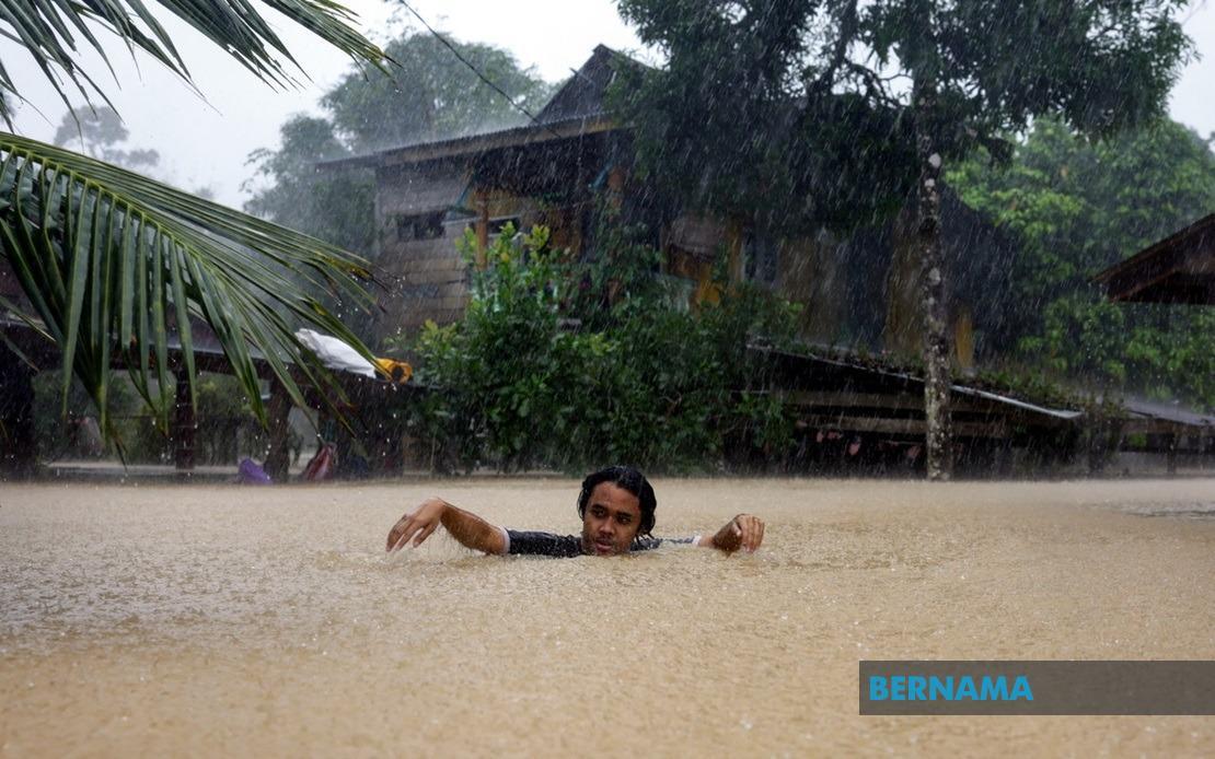
[[[610,47],[597,45],[587,62],[561,85],[531,124],[405,145],[317,165],[323,169],[354,169],[413,164],[610,131],[616,125],[608,117],[604,95],[616,78],[618,63],[637,64]]]

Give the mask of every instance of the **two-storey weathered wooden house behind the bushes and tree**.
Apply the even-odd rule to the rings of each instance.
[[[724,254],[730,281],[750,279],[803,305],[803,338],[919,353],[919,271],[908,214],[848,239],[769,239],[745,219],[673,206],[635,180],[629,130],[605,106],[621,66],[637,64],[598,46],[527,126],[326,164],[375,174],[377,256],[389,283],[377,338],[460,318],[468,276],[456,243],[465,231],[484,249],[508,222],[543,223],[555,247],[582,255],[593,243],[595,197],[610,193],[631,222],[651,231],[663,253],[660,276],[682,283],[690,304],[716,298],[711,273]],[[984,335],[1001,328],[1015,250],[949,193],[943,228],[955,352],[966,368],[983,352]]]

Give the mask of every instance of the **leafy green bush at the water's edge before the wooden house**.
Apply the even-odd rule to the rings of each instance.
[[[464,322],[430,324],[412,346],[417,381],[436,389],[412,423],[436,468],[689,471],[719,460],[727,440],[787,443],[790,420],[745,349],[755,334],[791,335],[792,310],[742,288],[691,313],[642,285],[654,251],[617,254],[571,264],[543,227],[497,238]],[[588,283],[612,282],[614,302],[586,298],[599,287]]]

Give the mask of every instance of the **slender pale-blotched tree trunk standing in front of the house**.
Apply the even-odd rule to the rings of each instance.
[[[940,251],[940,166],[931,128],[937,106],[936,87],[916,83],[916,152],[920,183],[916,189],[916,244],[923,287],[923,415],[929,480],[949,480],[954,472],[949,415],[949,333],[945,307],[945,268]]]

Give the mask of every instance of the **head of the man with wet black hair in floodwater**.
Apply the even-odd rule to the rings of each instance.
[[[654,529],[656,506],[654,488],[632,466],[609,466],[587,475],[578,493],[583,550],[628,553],[634,538]]]

